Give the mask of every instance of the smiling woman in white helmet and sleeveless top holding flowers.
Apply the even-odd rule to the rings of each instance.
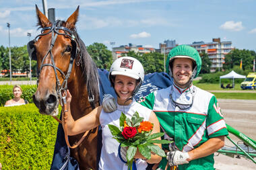
[[[131,118],[137,111],[145,121],[152,122],[154,128],[152,133],[160,132],[160,125],[152,110],[137,103],[133,96],[138,91],[144,78],[144,70],[139,60],[124,56],[118,58],[110,67],[108,79],[117,93],[117,110],[111,114],[104,112],[102,107],[95,108],[90,114],[74,121],[71,116],[70,102],[71,94],[67,91],[67,127],[68,135],[75,135],[81,132],[102,126],[102,151],[100,155],[99,169],[120,170],[127,169],[127,166],[118,155],[119,143],[115,140],[108,128],[108,124],[119,126],[119,118],[123,112],[127,118]],[[160,138],[158,138],[160,139]],[[160,144],[158,146],[161,147]],[[139,151],[135,154],[137,169],[146,169],[148,163],[158,163],[161,157],[152,153],[151,159],[145,160]],[[143,160],[144,159],[144,160]]]

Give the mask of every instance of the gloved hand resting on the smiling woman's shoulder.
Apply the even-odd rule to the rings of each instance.
[[[106,94],[103,97],[104,98],[102,101],[102,108],[103,108],[104,112],[110,113],[110,112],[114,112],[115,110],[117,110],[117,103],[116,103],[115,97],[113,97],[113,95]]]

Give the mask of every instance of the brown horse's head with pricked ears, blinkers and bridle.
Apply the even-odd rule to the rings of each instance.
[[[66,22],[51,23],[36,6],[38,26],[42,30],[41,34],[28,42],[28,53],[37,60],[38,89],[33,100],[40,114],[58,114],[61,92],[73,79],[70,75],[79,49],[75,34],[78,13],[79,6]]]

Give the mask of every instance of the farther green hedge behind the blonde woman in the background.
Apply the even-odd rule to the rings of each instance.
[[[28,100],[28,103],[33,103],[32,95],[36,92],[36,85],[21,85],[22,98]],[[0,85],[0,106],[5,105],[5,102],[13,98],[13,85]]]

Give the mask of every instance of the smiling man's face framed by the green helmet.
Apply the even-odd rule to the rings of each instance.
[[[193,62],[189,58],[175,58],[172,64],[174,83],[185,89],[193,71]]]

